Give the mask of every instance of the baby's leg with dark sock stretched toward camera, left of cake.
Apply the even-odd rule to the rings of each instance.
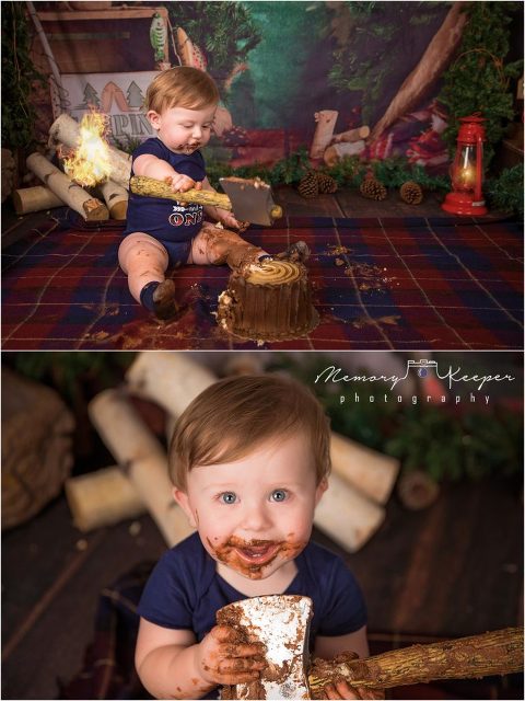
[[[128,276],[132,297],[153,311],[159,319],[176,312],[173,280],[165,279],[168,265],[166,249],[148,233],[130,233],[118,249],[118,262]]]

